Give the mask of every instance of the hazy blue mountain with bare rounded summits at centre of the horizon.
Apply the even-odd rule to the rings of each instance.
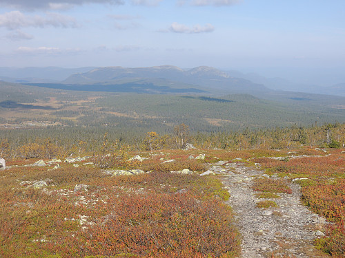
[[[158,81],[160,80],[160,81]],[[171,65],[155,67],[100,67],[89,72],[73,74],[62,83],[90,84],[103,83],[106,85],[122,83],[152,83],[153,85],[171,85],[171,87],[185,87],[194,85],[196,89],[219,93],[255,93],[269,92],[264,85],[253,83],[244,78],[231,77],[213,67],[196,67],[181,69]]]

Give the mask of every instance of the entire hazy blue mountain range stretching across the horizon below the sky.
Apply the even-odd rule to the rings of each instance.
[[[106,92],[270,94],[273,91],[288,91],[345,96],[345,83],[331,87],[300,85],[282,78],[266,78],[235,70],[224,72],[206,66],[192,69],[172,65],[73,69],[0,67],[0,80],[40,87]]]

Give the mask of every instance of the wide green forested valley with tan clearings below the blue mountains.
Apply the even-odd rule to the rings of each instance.
[[[271,94],[124,94],[48,89],[0,83],[0,126],[116,127],[118,131],[171,133],[184,122],[191,131],[238,131],[315,122],[344,122],[345,98]]]

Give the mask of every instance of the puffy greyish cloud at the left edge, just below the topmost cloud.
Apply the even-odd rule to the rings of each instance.
[[[75,28],[77,27],[77,22],[72,17],[57,13],[47,13],[46,17],[39,15],[28,16],[19,11],[0,14],[0,27],[8,28],[8,30],[27,27],[45,28],[47,26]]]

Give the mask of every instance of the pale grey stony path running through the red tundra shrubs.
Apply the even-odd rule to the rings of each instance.
[[[260,200],[251,189],[252,179],[268,177],[264,171],[243,163],[213,166],[210,170],[224,174],[223,182],[231,195],[228,204],[233,207],[242,234],[243,258],[272,257],[273,252],[282,256],[328,257],[313,247],[313,239],[323,234],[319,230],[326,221],[300,204],[298,184],[290,184],[292,194],[278,194],[281,198],[274,199],[277,208],[257,208]]]

